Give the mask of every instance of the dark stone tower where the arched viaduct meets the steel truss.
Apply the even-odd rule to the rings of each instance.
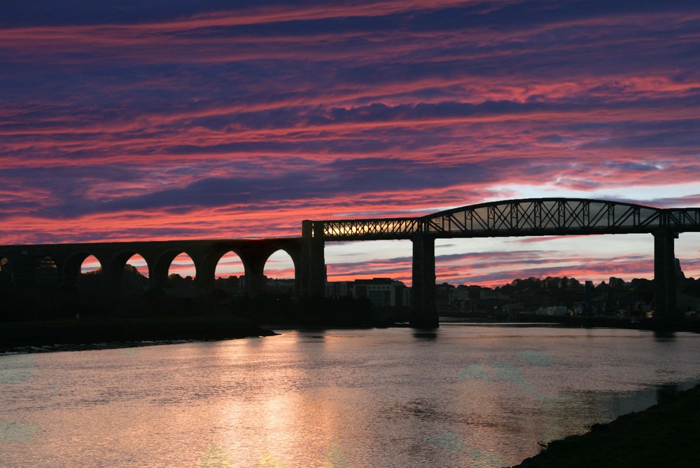
[[[298,291],[302,296],[325,296],[323,223],[302,221],[302,268]]]

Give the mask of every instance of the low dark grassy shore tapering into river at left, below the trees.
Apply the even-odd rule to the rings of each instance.
[[[81,318],[3,322],[0,352],[17,348],[88,349],[97,343],[176,342],[271,336],[250,320],[229,316]]]

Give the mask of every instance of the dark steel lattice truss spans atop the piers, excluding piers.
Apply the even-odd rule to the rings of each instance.
[[[489,202],[416,218],[348,219],[323,223],[325,240],[505,237],[700,230],[700,208],[654,208],[577,198]]]

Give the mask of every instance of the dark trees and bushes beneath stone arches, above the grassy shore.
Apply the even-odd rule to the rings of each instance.
[[[1,272],[0,272],[1,273]],[[72,319],[76,314],[99,318],[195,317],[220,315],[283,326],[374,326],[392,315],[356,298],[294,298],[293,288],[244,294],[239,278],[218,279],[214,289],[202,289],[192,277],[169,276],[165,287],[148,289],[148,279],[126,265],[116,289],[104,283],[102,270],[80,275],[72,286],[57,283],[14,284],[0,281],[0,322]]]

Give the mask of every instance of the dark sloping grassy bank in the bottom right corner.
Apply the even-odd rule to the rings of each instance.
[[[552,441],[513,468],[700,467],[700,386],[587,434]]]

